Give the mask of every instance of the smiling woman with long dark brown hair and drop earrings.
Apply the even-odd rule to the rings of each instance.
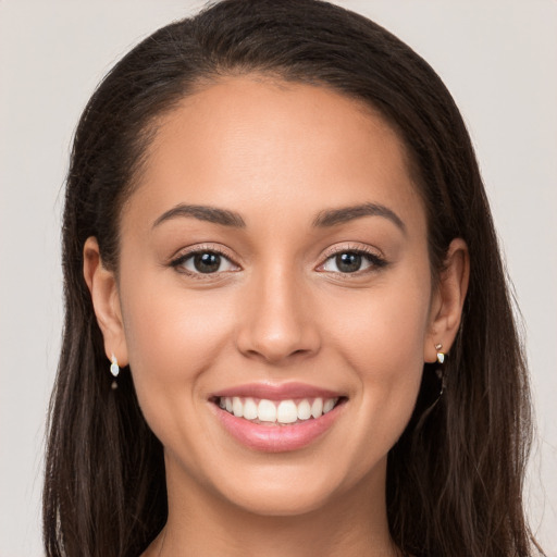
[[[431,67],[313,0],[154,33],[77,128],[48,555],[532,555],[524,361]]]

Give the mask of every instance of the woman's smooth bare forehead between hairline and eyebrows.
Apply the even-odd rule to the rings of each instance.
[[[166,113],[135,186],[131,206],[151,222],[184,202],[246,213],[248,225],[257,214],[310,220],[361,202],[424,218],[405,147],[376,111],[258,76],[223,78]]]

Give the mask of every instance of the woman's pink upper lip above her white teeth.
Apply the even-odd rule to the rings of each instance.
[[[343,396],[342,393],[330,391],[307,383],[248,383],[245,385],[237,385],[230,388],[218,391],[211,397],[233,397],[246,396],[253,398],[265,398],[269,400],[285,400],[290,398],[337,398]]]

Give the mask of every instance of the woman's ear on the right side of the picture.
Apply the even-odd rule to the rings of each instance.
[[[468,246],[463,239],[455,238],[448,247],[445,267],[432,299],[430,327],[423,347],[424,361],[434,362],[437,351],[450,350],[460,326],[469,276]],[[435,348],[437,344],[443,345],[438,350]]]

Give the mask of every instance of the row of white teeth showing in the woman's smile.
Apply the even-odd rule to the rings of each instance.
[[[337,400],[338,398],[325,398],[323,400],[323,398],[317,397],[312,400],[304,398],[296,404],[292,399],[273,401],[262,398],[259,403],[256,403],[251,397],[226,396],[219,398],[219,406],[236,418],[287,424],[295,423],[298,420],[321,418],[335,407]]]

